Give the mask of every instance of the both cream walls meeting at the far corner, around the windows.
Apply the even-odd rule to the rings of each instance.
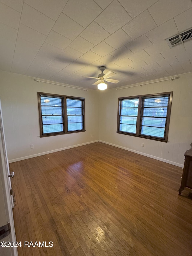
[[[106,91],[37,83],[31,77],[0,72],[0,97],[9,161],[97,140],[182,166],[192,142],[192,73],[128,89]],[[118,97],[173,91],[168,143],[116,133]],[[37,92],[85,97],[86,131],[40,138]],[[93,134],[93,137],[91,137]],[[144,147],[141,147],[144,143]],[[30,145],[34,145],[34,149]]]

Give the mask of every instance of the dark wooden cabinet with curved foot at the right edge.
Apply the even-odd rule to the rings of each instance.
[[[179,188],[179,195],[184,189],[192,193],[192,143],[190,146],[191,149],[184,153],[185,162],[183,167],[181,187]]]

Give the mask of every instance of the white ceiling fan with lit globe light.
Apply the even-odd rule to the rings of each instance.
[[[104,74],[103,72],[106,69],[106,67],[104,66],[99,67],[99,69],[101,70],[101,74],[99,74],[98,77],[88,77],[88,78],[98,79],[98,81],[93,83],[93,85],[98,85],[99,90],[107,89],[107,84],[105,83],[105,81],[110,83],[119,83],[119,80],[110,79],[110,77],[114,76],[116,73],[114,73],[113,71],[108,71],[106,74]],[[83,77],[87,77],[87,76],[83,76]]]

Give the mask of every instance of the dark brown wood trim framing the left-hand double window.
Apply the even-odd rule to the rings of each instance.
[[[76,132],[82,132],[85,131],[85,98],[81,97],[74,97],[74,96],[66,96],[66,95],[58,95],[58,94],[51,94],[51,93],[44,93],[44,92],[38,92],[38,109],[39,109],[39,125],[40,125],[40,137],[48,137],[48,136],[55,136],[60,134],[70,134],[70,133],[76,133]],[[42,112],[41,112],[41,96],[46,97],[52,97],[52,98],[60,98],[61,99],[61,108],[62,108],[62,114],[59,116],[62,116],[62,125],[63,125],[63,131],[59,132],[52,132],[52,133],[43,133],[43,120],[42,120]],[[81,100],[82,101],[82,129],[81,130],[75,130],[75,131],[67,131],[67,99],[74,99],[74,100]]]

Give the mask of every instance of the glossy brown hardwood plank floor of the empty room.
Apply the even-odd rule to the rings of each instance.
[[[192,198],[178,195],[180,167],[97,142],[10,171],[19,256],[192,255]]]

